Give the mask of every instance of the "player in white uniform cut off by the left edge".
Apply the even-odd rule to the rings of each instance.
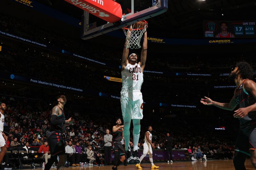
[[[0,147],[1,147],[1,153],[0,153],[0,163],[2,162],[5,152],[7,151],[7,147],[5,145],[5,134],[4,134],[4,111],[6,110],[6,105],[4,103],[1,103],[0,105]],[[12,169],[7,164],[5,164],[4,169]]]

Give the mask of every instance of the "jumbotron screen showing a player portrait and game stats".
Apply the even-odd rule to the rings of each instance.
[[[204,21],[205,38],[251,38],[256,21]]]

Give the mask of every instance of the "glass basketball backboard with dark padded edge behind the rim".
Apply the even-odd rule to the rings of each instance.
[[[107,0],[105,0],[107,1]],[[113,0],[108,0],[113,1]],[[146,20],[167,11],[168,0],[115,0],[121,5],[123,17],[114,23],[107,22],[84,11],[82,18],[82,39],[87,40],[108,33],[132,23]]]

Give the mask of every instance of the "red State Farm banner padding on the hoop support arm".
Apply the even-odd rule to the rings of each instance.
[[[121,5],[113,0],[65,0],[68,3],[89,12],[110,23],[122,19]]]

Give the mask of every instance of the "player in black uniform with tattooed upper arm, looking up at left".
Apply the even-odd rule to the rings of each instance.
[[[49,170],[51,168],[52,164],[57,160],[57,156],[59,156],[60,159],[57,166],[58,170],[64,169],[67,160],[65,141],[62,138],[62,133],[64,132],[65,126],[72,124],[74,119],[70,117],[68,120],[65,120],[63,108],[67,102],[66,96],[59,95],[57,101],[58,105],[52,108],[51,127],[46,134],[51,158],[45,165],[44,170]]]

